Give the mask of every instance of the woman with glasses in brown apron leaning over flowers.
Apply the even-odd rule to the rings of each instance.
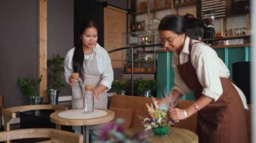
[[[248,142],[245,95],[228,77],[229,70],[215,50],[186,36],[186,21],[167,15],[158,27],[160,42],[173,52],[174,87],[161,103],[193,91],[195,103],[186,109],[170,108],[173,120],[198,112],[199,142]]]

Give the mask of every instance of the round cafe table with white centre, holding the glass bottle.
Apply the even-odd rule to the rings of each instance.
[[[94,109],[93,113],[84,113],[84,109],[68,109],[55,111],[50,115],[50,121],[55,123],[58,129],[60,125],[82,126],[85,142],[89,142],[89,134],[86,133],[86,126],[110,122],[115,118],[114,111],[108,109]]]

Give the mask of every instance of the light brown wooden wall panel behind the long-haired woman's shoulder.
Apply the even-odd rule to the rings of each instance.
[[[116,7],[104,8],[104,48],[113,50],[123,46],[123,34],[127,32],[127,11]],[[124,51],[109,54],[113,68],[123,67],[122,53]]]

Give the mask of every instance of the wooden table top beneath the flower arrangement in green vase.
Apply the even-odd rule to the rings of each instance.
[[[126,130],[126,134],[129,136],[132,136],[133,134],[137,132],[141,132],[143,128],[129,128]],[[183,143],[183,142],[189,142],[189,143],[198,143],[198,136],[194,132],[191,132],[189,130],[185,130],[183,128],[174,128],[171,127],[168,134],[166,136],[155,136],[152,135],[150,137],[152,142],[158,143],[158,142],[170,142],[170,143]]]

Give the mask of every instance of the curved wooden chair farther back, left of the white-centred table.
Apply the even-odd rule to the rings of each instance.
[[[16,113],[21,111],[30,111],[35,109],[54,109],[55,111],[68,109],[68,107],[61,105],[22,105],[3,109],[3,120],[5,123],[5,131],[10,130],[11,119],[16,118]]]

